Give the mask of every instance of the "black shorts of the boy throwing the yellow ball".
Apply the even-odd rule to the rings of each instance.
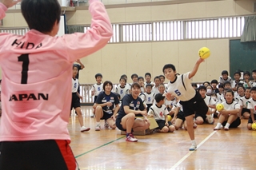
[[[190,101],[180,101],[180,104],[182,105],[185,117],[194,113],[197,113],[200,117],[204,117],[209,110],[206,102],[198,92],[195,93],[195,96]]]

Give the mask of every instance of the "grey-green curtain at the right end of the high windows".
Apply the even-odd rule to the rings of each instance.
[[[256,42],[256,16],[245,17],[241,42]]]

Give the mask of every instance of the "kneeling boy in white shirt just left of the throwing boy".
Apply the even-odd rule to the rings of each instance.
[[[154,117],[158,123],[159,132],[174,132],[175,127],[168,121],[168,109],[165,105],[165,97],[161,93],[158,93],[154,97],[156,104],[152,105],[149,109],[149,117]]]

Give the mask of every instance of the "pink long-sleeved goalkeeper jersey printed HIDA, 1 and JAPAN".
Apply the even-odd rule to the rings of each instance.
[[[6,6],[0,3],[0,19]],[[0,141],[70,140],[72,65],[101,49],[112,28],[102,2],[90,0],[91,29],[86,34],[50,37],[37,30],[0,34],[2,119]]]

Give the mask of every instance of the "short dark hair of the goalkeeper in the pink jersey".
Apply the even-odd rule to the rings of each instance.
[[[60,21],[61,6],[57,0],[22,0],[22,15],[30,30],[49,33]]]

